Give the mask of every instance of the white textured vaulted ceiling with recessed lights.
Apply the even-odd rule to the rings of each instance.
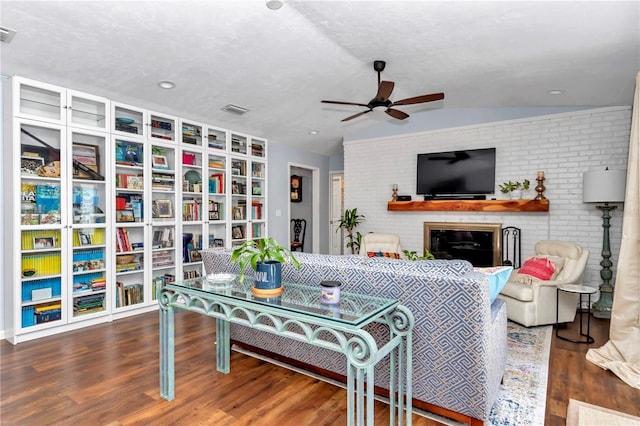
[[[522,1],[1,1],[1,73],[330,154],[394,119],[367,103],[375,59],[392,100],[443,91],[434,108],[631,105],[640,3]],[[162,90],[156,83],[172,80]],[[551,96],[549,89],[562,89]],[[235,104],[238,116],[221,110]],[[318,135],[309,135],[318,130]]]

